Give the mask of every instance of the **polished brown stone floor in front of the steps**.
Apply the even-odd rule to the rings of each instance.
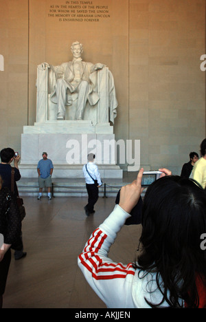
[[[23,241],[27,257],[10,265],[3,308],[105,308],[77,265],[89,236],[111,213],[115,198],[100,197],[87,217],[87,197],[24,197]],[[127,264],[137,255],[141,225],[124,226],[109,256]],[[13,252],[12,252],[13,255]]]

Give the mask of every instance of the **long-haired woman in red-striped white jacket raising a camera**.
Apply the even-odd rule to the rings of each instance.
[[[115,263],[108,252],[139,200],[144,169],[122,187],[119,204],[78,257],[84,277],[108,308],[206,307],[205,191],[193,180],[160,171],[164,176],[144,197],[137,261]]]

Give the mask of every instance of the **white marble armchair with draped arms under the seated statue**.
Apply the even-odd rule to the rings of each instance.
[[[113,75],[108,67],[103,67],[96,72],[97,88],[96,92],[100,99],[94,106],[87,102],[84,110],[83,120],[91,120],[93,125],[99,123],[114,123],[117,115],[117,99],[115,94],[115,85]],[[45,123],[47,120],[57,119],[57,105],[50,100],[50,94],[56,85],[56,76],[49,69],[37,69],[36,81],[36,122]],[[65,120],[75,120],[76,101],[66,106]]]

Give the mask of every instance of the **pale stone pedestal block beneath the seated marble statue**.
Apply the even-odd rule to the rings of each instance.
[[[102,178],[122,178],[116,165],[115,135],[109,123],[93,125],[88,120],[36,122],[23,127],[21,136],[22,178],[36,178],[37,164],[47,152],[54,164],[53,178],[84,178],[88,153],[96,155]]]

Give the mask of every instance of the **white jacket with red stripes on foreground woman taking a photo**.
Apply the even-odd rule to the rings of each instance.
[[[162,300],[156,275],[139,278],[139,270],[135,270],[132,263],[123,265],[108,258],[108,251],[128,217],[130,215],[116,205],[87,241],[78,257],[78,265],[107,308],[150,308],[145,298],[155,304]],[[167,306],[163,303],[163,307]]]

